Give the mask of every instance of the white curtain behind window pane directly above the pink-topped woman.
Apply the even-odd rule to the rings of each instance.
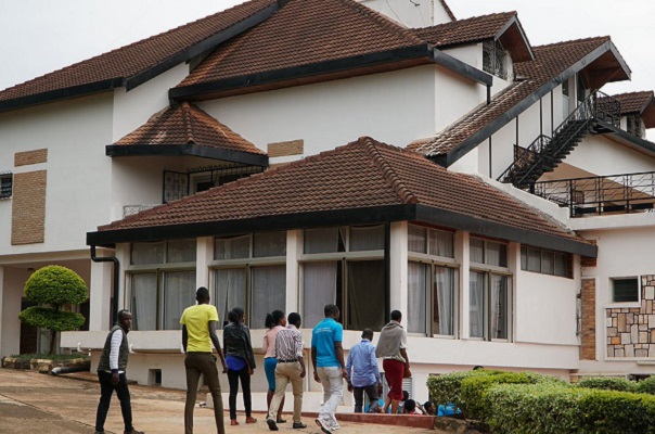
[[[254,267],[251,271],[251,321],[260,324],[266,314],[280,309],[285,311],[286,267]]]

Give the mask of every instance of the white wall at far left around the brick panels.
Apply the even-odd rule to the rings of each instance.
[[[86,232],[110,221],[111,93],[0,115],[1,162],[16,152],[47,148],[48,162],[12,167],[14,174],[48,170],[46,242],[11,245],[11,200],[0,201],[0,255],[86,247]],[[38,126],[38,127],[37,127]],[[3,163],[5,164],[5,163]],[[4,167],[4,166],[3,166]]]

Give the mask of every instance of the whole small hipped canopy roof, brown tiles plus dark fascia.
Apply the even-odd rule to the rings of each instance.
[[[268,166],[264,151],[188,102],[166,107],[106,146],[110,156],[196,155]]]

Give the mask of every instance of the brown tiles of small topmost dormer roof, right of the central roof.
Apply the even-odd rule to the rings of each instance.
[[[416,28],[414,31],[421,39],[436,47],[454,46],[496,38],[508,22],[515,16],[516,12],[495,13]]]

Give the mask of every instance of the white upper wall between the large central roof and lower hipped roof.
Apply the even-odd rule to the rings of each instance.
[[[361,136],[406,146],[435,132],[434,74],[426,65],[198,105],[264,151],[268,143],[301,139],[307,156]]]

